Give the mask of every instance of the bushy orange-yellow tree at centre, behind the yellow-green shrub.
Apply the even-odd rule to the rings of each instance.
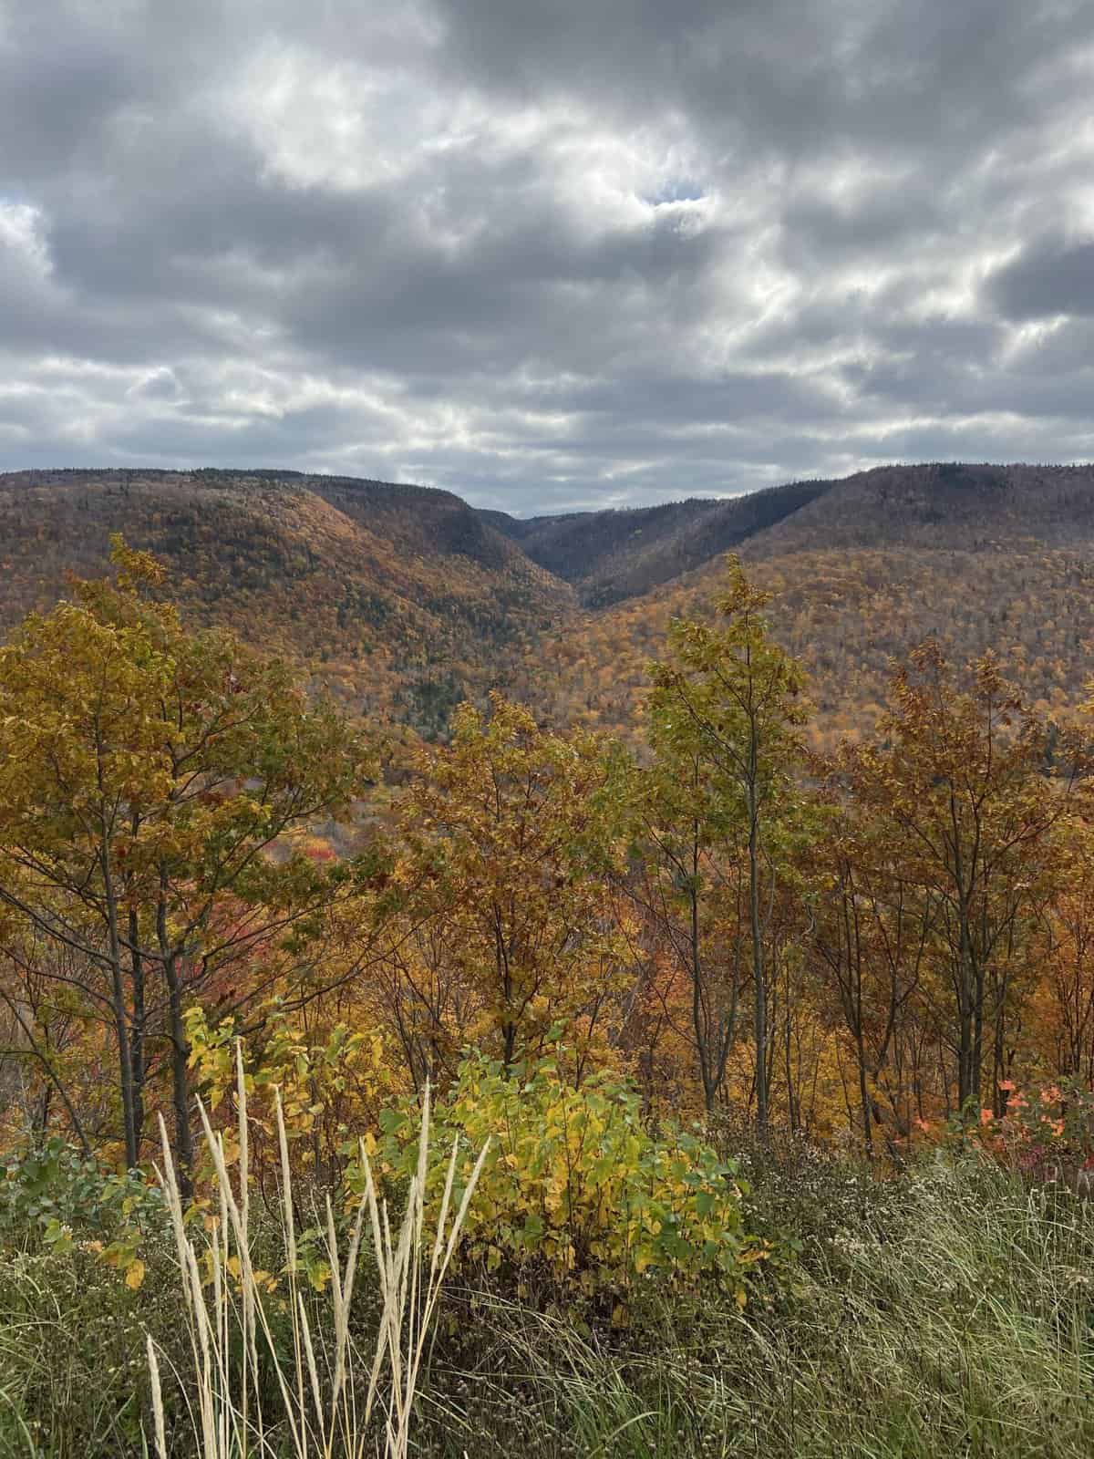
[[[401,875],[429,926],[422,986],[449,988],[429,1008],[436,995],[422,992],[435,1039],[419,1042],[419,1058],[476,1043],[511,1068],[565,1030],[581,1078],[589,1049],[610,1040],[630,956],[608,880],[600,741],[548,734],[492,694],[489,718],[461,705],[451,743],[423,750],[416,770],[400,810]],[[459,1026],[445,1027],[457,1013]]]

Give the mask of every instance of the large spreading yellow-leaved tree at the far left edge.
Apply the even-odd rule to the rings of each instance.
[[[225,630],[190,633],[163,570],[114,540],[117,581],[77,582],[0,648],[0,907],[74,957],[39,959],[109,1030],[127,1166],[169,1071],[175,1154],[193,1158],[185,1008],[252,995],[353,881],[284,837],[347,811],[368,756],[296,671]],[[18,961],[13,966],[19,966]]]

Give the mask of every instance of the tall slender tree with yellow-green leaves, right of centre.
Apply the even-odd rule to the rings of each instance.
[[[710,891],[722,916],[742,913],[745,966],[753,994],[756,1115],[767,1129],[770,1085],[769,1001],[773,986],[777,889],[791,849],[802,836],[794,770],[802,754],[802,668],[770,633],[763,610],[770,594],[748,582],[737,557],[726,559],[726,591],[718,623],[674,619],[668,657],[652,665],[646,820],[661,875],[674,883],[671,921],[688,964],[694,1039],[707,1107],[713,1106],[732,1045],[738,954],[728,969],[707,957],[702,922]],[[734,849],[737,848],[737,849]],[[712,868],[716,849],[722,867]],[[734,859],[740,865],[732,872]],[[722,886],[719,886],[722,883]],[[737,894],[728,894],[737,883]],[[658,897],[658,905],[668,899]],[[662,921],[667,921],[662,913]]]

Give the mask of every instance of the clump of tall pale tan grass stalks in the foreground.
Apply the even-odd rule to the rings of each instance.
[[[175,1237],[191,1358],[191,1370],[178,1377],[188,1393],[197,1455],[200,1459],[359,1459],[379,1452],[379,1424],[385,1459],[403,1459],[408,1453],[426,1344],[486,1148],[480,1151],[457,1205],[458,1144],[452,1144],[441,1207],[435,1223],[427,1227],[429,1090],[422,1107],[417,1164],[400,1224],[392,1224],[387,1202],[378,1195],[362,1145],[365,1189],[349,1224],[344,1253],[330,1196],[325,1202],[322,1226],[330,1306],[318,1317],[314,1309],[309,1316],[302,1263],[298,1261],[299,1233],[280,1099],[276,1100],[276,1126],[284,1269],[273,1278],[252,1261],[247,1091],[239,1049],[236,1081],[236,1183],[229,1174],[223,1132],[213,1129],[204,1106],[200,1106],[216,1196],[212,1233],[201,1247],[190,1236],[160,1121],[163,1167],[158,1173]],[[375,1258],[381,1309],[371,1352],[360,1351],[350,1323],[366,1245],[371,1245]],[[286,1322],[287,1354],[282,1339]],[[169,1459],[159,1357],[149,1336],[155,1452],[158,1459]],[[270,1369],[274,1376],[273,1399],[265,1379]]]

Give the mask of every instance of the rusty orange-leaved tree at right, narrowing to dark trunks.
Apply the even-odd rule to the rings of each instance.
[[[932,1002],[950,1004],[961,1109],[979,1107],[986,1058],[996,1078],[1006,1068],[1049,836],[1082,765],[1079,744],[1025,708],[992,655],[961,678],[934,639],[896,676],[872,741],[840,756],[931,922],[941,973]]]

